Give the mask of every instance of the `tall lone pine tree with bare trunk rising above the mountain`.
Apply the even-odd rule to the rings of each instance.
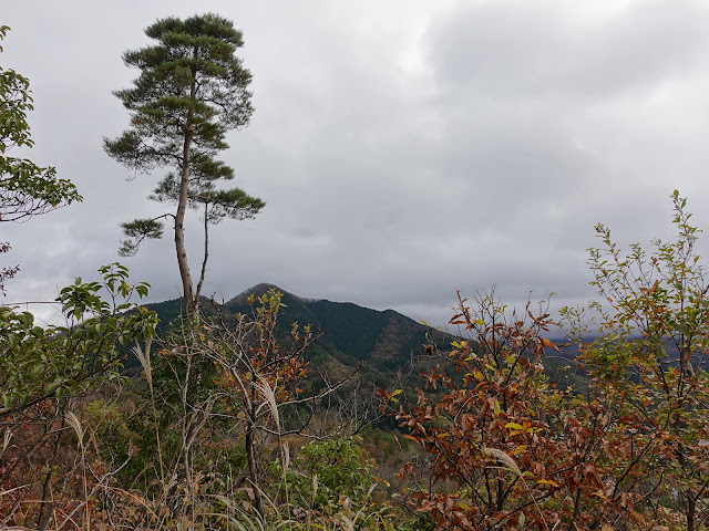
[[[127,51],[126,65],[141,71],[132,88],[114,94],[131,112],[131,127],[115,139],[104,139],[106,153],[136,170],[167,168],[150,196],[176,205],[175,214],[123,223],[127,237],[121,254],[134,254],[146,238],[163,236],[163,219],[172,219],[175,251],[188,316],[195,316],[204,283],[208,227],[225,218],[253,218],[264,201],[240,188],[222,189],[234,170],[215,157],[227,148],[229,129],[248,125],[254,108],[247,87],[251,74],[235,55],[242,32],[222,17],[207,13],[162,19],[145,34],[155,45]],[[204,257],[195,285],[185,248],[185,214],[199,209],[204,221]]]

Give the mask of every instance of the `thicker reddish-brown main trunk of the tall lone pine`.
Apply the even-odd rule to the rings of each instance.
[[[196,80],[193,73],[189,95],[194,100],[196,92]],[[183,295],[187,305],[187,317],[197,315],[197,303],[195,300],[189,274],[189,263],[187,262],[187,249],[185,248],[185,212],[187,211],[187,191],[189,189],[189,147],[194,135],[192,123],[192,110],[187,113],[187,124],[185,125],[185,138],[182,149],[182,173],[179,176],[179,198],[177,200],[177,212],[175,214],[175,251],[177,252],[177,266],[179,267],[179,278],[182,279]]]

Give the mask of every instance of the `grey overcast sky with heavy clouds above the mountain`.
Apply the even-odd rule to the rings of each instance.
[[[132,178],[102,149],[129,125],[111,93],[135,79],[121,54],[150,43],[145,27],[206,11],[244,32],[256,112],[223,158],[267,204],[213,229],[207,295],[273,282],[442,324],[458,289],[583,303],[594,225],[624,244],[668,238],[675,188],[709,227],[709,0],[198,4],[3,1],[0,64],[35,98],[22,154],[84,196],[3,223],[2,260],[22,269],[4,302],[93,280],[119,260],[122,221],[163,211],[146,198],[163,171]],[[121,259],[152,301],[179,294],[167,235]]]

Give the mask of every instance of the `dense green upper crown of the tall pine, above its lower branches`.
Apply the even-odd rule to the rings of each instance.
[[[240,31],[216,14],[158,20],[145,30],[153,46],[125,52],[141,75],[114,94],[131,111],[131,128],[105,140],[109,154],[140,171],[156,166],[182,170],[184,138],[191,137],[191,174],[225,149],[227,131],[248,125],[254,108],[251,74],[235,52]]]

